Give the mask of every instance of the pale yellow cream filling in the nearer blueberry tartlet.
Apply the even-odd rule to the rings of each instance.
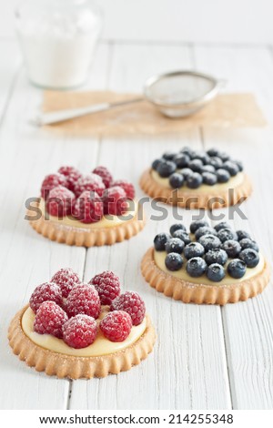
[[[214,281],[208,280],[206,274],[202,275],[201,277],[198,277],[198,278],[191,277],[190,275],[188,275],[187,270],[186,270],[187,260],[185,258],[184,258],[184,263],[183,263],[183,266],[181,269],[179,269],[179,270],[168,270],[166,265],[165,265],[166,256],[167,256],[166,251],[154,250],[154,260],[157,264],[157,268],[159,268],[160,270],[163,270],[164,272],[167,272],[168,274],[172,275],[173,277],[175,277],[179,280],[194,282],[195,284],[205,284],[205,285],[218,285],[218,284],[219,285],[231,285],[231,284],[235,284],[238,282],[242,282],[244,280],[250,280],[255,275],[260,273],[265,266],[265,259],[262,256],[262,254],[259,253],[258,265],[255,268],[247,268],[245,275],[242,278],[237,280],[235,278],[230,277],[227,273],[227,264],[230,260],[232,260],[232,259],[230,259],[230,260],[227,260],[227,263],[224,266],[225,271],[226,271],[225,278],[223,278],[223,280],[221,280],[219,282],[214,282]]]

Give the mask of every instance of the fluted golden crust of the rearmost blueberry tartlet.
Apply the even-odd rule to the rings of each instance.
[[[142,174],[139,185],[151,198],[169,205],[190,209],[218,209],[236,205],[247,199],[252,193],[251,181],[245,173],[243,182],[234,189],[214,191],[211,186],[211,191],[198,193],[197,190],[193,192],[190,189],[177,190],[161,186],[152,178],[151,168],[149,168]]]

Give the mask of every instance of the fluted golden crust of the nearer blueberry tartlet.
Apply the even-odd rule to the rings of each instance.
[[[186,280],[179,280],[170,273],[157,267],[154,260],[154,249],[150,248],[141,262],[142,274],[151,287],[163,292],[167,297],[184,303],[207,303],[225,305],[237,301],[247,301],[256,296],[268,285],[270,270],[267,261],[261,272],[248,280],[234,284],[217,285],[197,284]]]

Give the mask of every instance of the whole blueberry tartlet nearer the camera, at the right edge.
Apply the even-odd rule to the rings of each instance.
[[[268,262],[248,232],[227,222],[182,223],[159,233],[147,250],[141,270],[147,282],[185,303],[225,305],[246,301],[268,285]]]

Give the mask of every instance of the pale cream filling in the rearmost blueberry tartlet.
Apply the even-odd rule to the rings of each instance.
[[[177,171],[179,171],[179,169],[177,169]],[[162,178],[159,176],[158,172],[155,169],[151,170],[151,177],[157,181],[158,184],[160,184],[160,186],[167,188],[167,189],[172,189],[174,190],[170,185],[169,185],[169,178]],[[222,192],[228,189],[235,189],[238,186],[240,186],[244,181],[244,173],[243,172],[238,172],[238,174],[235,177],[231,177],[227,183],[217,183],[214,186],[208,186],[207,184],[202,184],[199,188],[197,189],[189,189],[186,186],[182,187],[179,189],[179,191],[188,191],[190,193],[218,193],[218,192]]]

